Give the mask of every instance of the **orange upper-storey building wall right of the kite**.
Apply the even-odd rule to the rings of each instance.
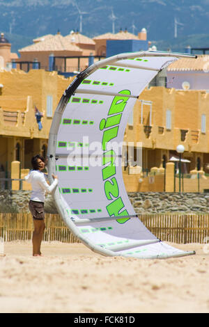
[[[145,128],[149,126],[150,106],[144,106],[141,124],[140,100],[152,102],[150,133]],[[146,88],[134,106],[134,125],[127,125],[125,140],[136,143],[141,140],[146,148],[174,151],[182,143],[186,152],[208,153],[208,104],[209,94],[206,91],[175,90],[162,86]],[[171,111],[171,128],[167,128],[167,110]],[[206,133],[201,132],[203,113],[206,114]],[[181,130],[187,130],[184,141]]]

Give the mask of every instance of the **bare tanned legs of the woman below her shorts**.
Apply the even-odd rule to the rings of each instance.
[[[33,231],[33,256],[40,256],[40,244],[42,241],[42,235],[45,230],[45,222],[43,219],[33,219],[34,231]]]

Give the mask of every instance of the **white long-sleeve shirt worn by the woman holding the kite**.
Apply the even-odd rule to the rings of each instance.
[[[32,192],[31,200],[38,202],[45,202],[45,192],[52,193],[58,184],[58,180],[55,178],[54,182],[49,185],[45,180],[45,174],[39,170],[31,170],[29,175],[24,177],[26,182],[31,183]]]

